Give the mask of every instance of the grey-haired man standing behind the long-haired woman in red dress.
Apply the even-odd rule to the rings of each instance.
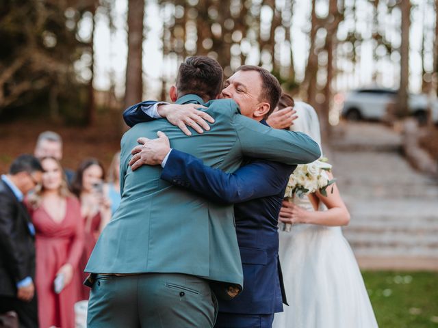
[[[34,155],[37,159],[43,157],[54,157],[58,161],[62,161],[62,137],[52,131],[44,131],[38,135]],[[73,181],[75,172],[71,169],[64,169],[68,184]]]

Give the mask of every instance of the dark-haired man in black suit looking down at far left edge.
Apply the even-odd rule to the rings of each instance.
[[[14,311],[20,327],[38,327],[35,297],[35,229],[23,197],[42,180],[31,155],[18,156],[0,180],[0,313]]]

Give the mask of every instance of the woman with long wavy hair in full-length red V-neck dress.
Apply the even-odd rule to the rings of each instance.
[[[42,185],[27,200],[36,229],[38,318],[40,328],[73,328],[81,284],[77,269],[83,252],[81,207],[68,191],[60,162],[46,157],[41,165]]]

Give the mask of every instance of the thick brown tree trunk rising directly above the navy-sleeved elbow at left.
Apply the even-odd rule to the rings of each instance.
[[[128,59],[126,65],[124,108],[142,100],[142,43],[145,0],[129,0],[128,4]]]

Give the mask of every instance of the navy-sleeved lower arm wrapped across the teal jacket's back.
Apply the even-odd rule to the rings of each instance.
[[[226,173],[203,164],[201,159],[172,150],[161,178],[179,187],[200,193],[214,202],[240,203],[259,197],[278,195],[294,166],[257,161]]]

